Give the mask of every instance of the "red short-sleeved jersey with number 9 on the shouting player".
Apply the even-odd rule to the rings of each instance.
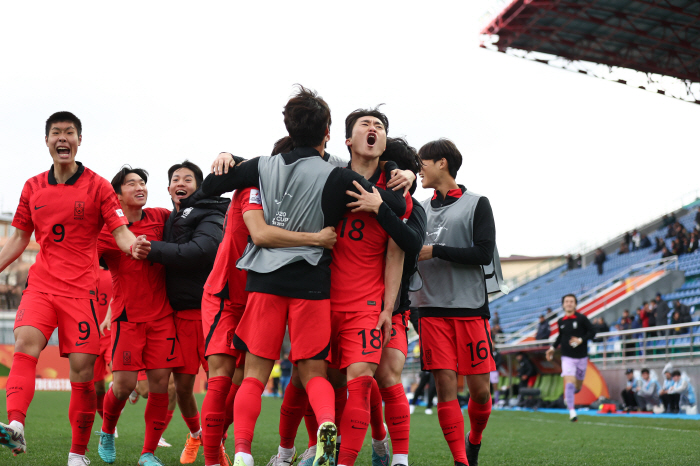
[[[69,298],[95,299],[97,236],[126,225],[117,195],[107,180],[78,162],[78,171],[58,184],[49,171],[27,180],[12,226],[35,234],[36,262],[27,290]]]

